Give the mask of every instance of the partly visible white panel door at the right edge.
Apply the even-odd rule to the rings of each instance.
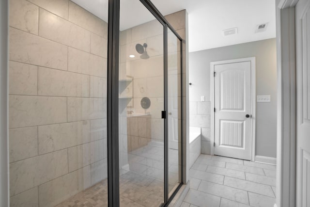
[[[298,1],[295,29],[296,207],[310,207],[310,0]]]

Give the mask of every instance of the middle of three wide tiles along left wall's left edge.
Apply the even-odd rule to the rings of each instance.
[[[47,96],[9,97],[9,127],[31,127],[67,121],[67,99]]]

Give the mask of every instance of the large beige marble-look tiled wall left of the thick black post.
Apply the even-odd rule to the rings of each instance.
[[[10,0],[9,25],[11,206],[55,206],[107,177],[107,23]]]

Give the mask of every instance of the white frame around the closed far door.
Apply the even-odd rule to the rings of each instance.
[[[214,155],[214,66],[217,64],[229,64],[240,62],[251,62],[251,161],[255,161],[255,119],[256,119],[256,70],[255,70],[255,57],[225,60],[211,62],[210,64],[210,77],[211,77],[211,129],[210,129],[210,154]]]

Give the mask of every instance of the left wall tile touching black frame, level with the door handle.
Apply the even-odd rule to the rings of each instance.
[[[68,97],[68,121],[101,119],[107,117],[106,98]]]

